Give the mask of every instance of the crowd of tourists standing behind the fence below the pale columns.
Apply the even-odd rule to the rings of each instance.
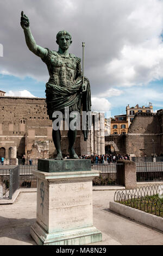
[[[69,156],[66,157],[67,159]],[[82,155],[79,156],[79,159],[90,159],[91,163],[93,164],[111,164],[111,163],[116,163],[117,160],[130,160],[129,155],[123,155],[123,154],[105,154],[105,155]]]

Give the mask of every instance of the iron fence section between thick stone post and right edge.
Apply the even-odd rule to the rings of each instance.
[[[136,163],[136,180],[140,181],[162,181],[163,162]]]

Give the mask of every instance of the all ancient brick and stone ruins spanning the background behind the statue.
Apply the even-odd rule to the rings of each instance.
[[[49,120],[44,98],[0,96],[0,155],[5,159],[22,157],[48,158],[55,155],[52,140],[52,121]],[[93,113],[93,115],[99,113]],[[78,131],[75,150],[80,155],[105,154],[105,147],[112,145],[116,153],[133,156],[151,156],[154,139],[155,154],[163,154],[163,110],[157,113],[137,113],[126,135],[104,137],[104,114],[101,125],[92,123],[88,140]],[[68,154],[67,131],[63,133],[61,147]]]

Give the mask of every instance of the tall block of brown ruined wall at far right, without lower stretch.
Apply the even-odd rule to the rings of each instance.
[[[129,126],[126,140],[127,153],[135,156],[152,156],[161,152],[161,123],[158,114],[137,113]]]

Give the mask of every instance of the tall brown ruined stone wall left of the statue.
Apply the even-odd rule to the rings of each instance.
[[[49,140],[49,153],[55,148],[52,142],[52,121],[49,120],[45,99],[30,97],[0,97],[0,148],[5,148],[5,158],[9,148],[17,148],[17,157],[23,154],[39,157],[38,147]],[[46,154],[47,149],[45,148]],[[36,158],[37,158],[36,157]]]

